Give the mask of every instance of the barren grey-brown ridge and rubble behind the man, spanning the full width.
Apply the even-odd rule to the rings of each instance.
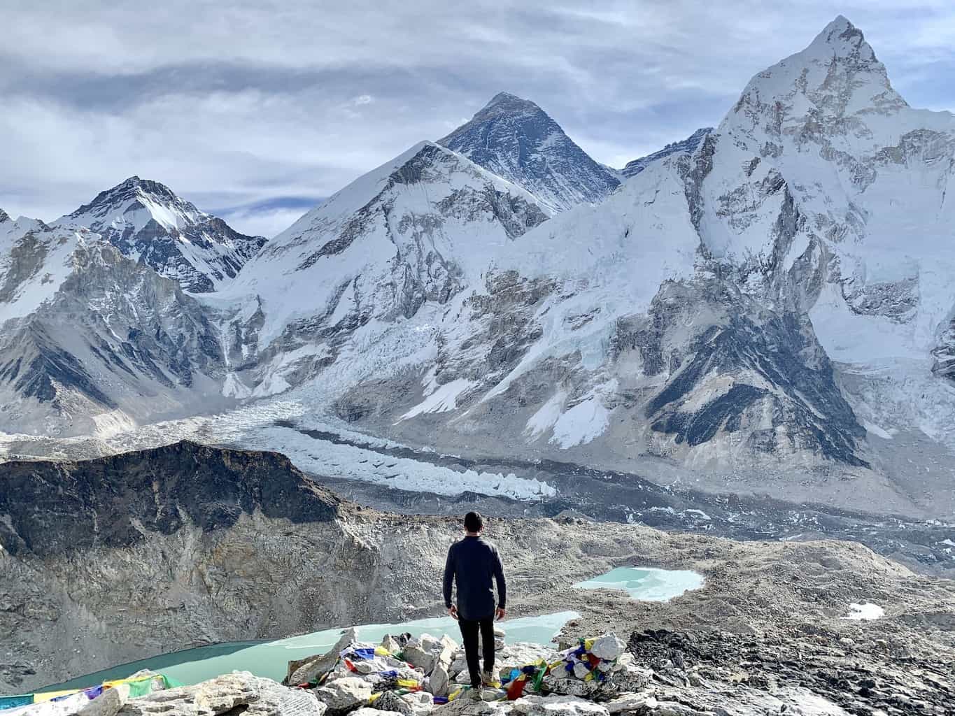
[[[441,614],[441,567],[461,534],[458,519],[339,501],[282,455],[188,442],[0,465],[0,515],[8,693],[202,643]],[[914,575],[859,544],[740,543],[577,519],[496,519],[488,532],[513,616],[575,609],[572,638],[675,632],[631,640],[638,665],[659,674],[661,702],[778,706],[808,689],[877,705],[950,693],[955,582]],[[706,581],[668,602],[571,586],[620,565],[692,569]],[[866,602],[885,616],[845,618]],[[664,658],[672,649],[682,659]],[[872,678],[878,686],[864,686]]]

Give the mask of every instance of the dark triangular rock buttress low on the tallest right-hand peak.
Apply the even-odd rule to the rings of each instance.
[[[708,309],[709,321],[701,320]],[[684,344],[679,336],[688,323],[695,333]],[[859,454],[865,431],[805,314],[760,308],[729,283],[665,284],[646,319],[618,326],[615,349],[637,350],[647,375],[667,374],[645,414],[652,430],[673,434],[678,445],[740,432],[757,452],[811,450],[868,465]],[[701,400],[717,379],[728,390]]]

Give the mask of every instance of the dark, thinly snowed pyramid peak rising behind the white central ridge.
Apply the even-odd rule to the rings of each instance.
[[[554,211],[599,203],[620,185],[614,170],[588,157],[534,102],[506,92],[438,144],[526,189]]]

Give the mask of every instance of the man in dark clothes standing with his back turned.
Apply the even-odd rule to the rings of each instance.
[[[507,600],[507,581],[498,548],[480,537],[483,529],[484,520],[479,514],[465,515],[464,538],[451,545],[444,567],[444,605],[461,627],[471,685],[476,689],[498,681],[494,675],[494,619],[504,618]],[[497,609],[492,579],[498,582]],[[451,602],[454,582],[457,582],[457,605]],[[478,631],[484,644],[483,674],[477,655]]]

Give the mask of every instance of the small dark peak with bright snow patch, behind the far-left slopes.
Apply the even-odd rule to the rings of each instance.
[[[158,181],[130,177],[53,224],[87,227],[124,256],[193,293],[218,290],[265,243],[205,214]]]

